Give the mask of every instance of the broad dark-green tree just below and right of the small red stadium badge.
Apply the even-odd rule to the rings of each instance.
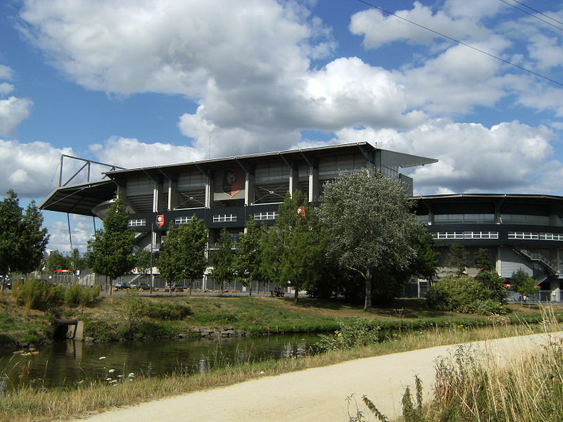
[[[170,286],[172,283],[188,279],[191,295],[194,279],[203,277],[207,267],[207,236],[208,230],[203,220],[196,219],[195,216],[186,224],[170,226],[158,257],[160,275]]]

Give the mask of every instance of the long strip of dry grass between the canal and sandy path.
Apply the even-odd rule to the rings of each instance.
[[[474,329],[468,329],[465,326],[450,325],[445,328],[434,326],[428,331],[412,331],[384,343],[352,350],[335,350],[304,359],[269,360],[238,366],[226,364],[219,369],[193,376],[174,375],[151,379],[139,377],[133,382],[120,383],[117,389],[101,382],[82,385],[77,390],[52,389],[37,392],[34,388],[22,388],[0,400],[0,421],[31,422],[68,419],[91,411],[103,411],[169,395],[232,385],[251,378],[258,378],[261,371],[267,375],[277,375],[361,357],[403,352],[435,345],[467,343],[475,340],[536,333],[543,331],[544,328],[528,324],[495,325]],[[558,327],[553,326],[553,328]],[[116,394],[116,391],[119,394]]]

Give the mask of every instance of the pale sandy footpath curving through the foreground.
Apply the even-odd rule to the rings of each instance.
[[[550,335],[561,337],[563,333]],[[488,357],[506,361],[511,353],[537,347],[548,335],[504,338],[472,343]],[[263,376],[214,390],[146,402],[82,418],[88,422],[347,422],[346,397],[358,402],[367,395],[393,419],[400,415],[405,386],[418,375],[428,397],[434,383],[434,363],[455,345],[431,347],[386,356],[369,357],[322,368]],[[425,398],[426,398],[425,397]],[[360,404],[360,409],[366,410]],[[374,420],[369,418],[369,420]]]

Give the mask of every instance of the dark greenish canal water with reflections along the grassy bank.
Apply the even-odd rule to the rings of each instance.
[[[138,375],[201,373],[263,359],[295,359],[310,354],[316,341],[315,334],[111,344],[66,340],[30,356],[0,354],[0,376],[8,376],[8,390],[16,385],[70,388],[94,380],[117,385]]]

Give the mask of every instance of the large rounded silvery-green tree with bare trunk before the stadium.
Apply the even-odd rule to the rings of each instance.
[[[419,223],[403,184],[374,170],[342,172],[324,185],[319,208],[331,242],[327,252],[364,279],[364,309],[372,309],[372,283],[407,268],[416,256]]]

